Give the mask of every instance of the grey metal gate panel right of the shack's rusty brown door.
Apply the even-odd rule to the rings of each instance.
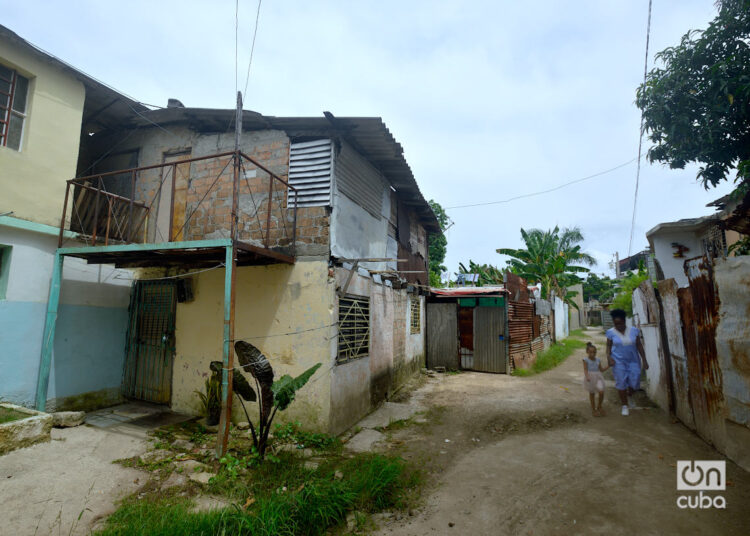
[[[507,373],[505,346],[505,307],[475,307],[473,370]]]

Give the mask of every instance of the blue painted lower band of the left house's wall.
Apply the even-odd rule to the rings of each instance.
[[[33,406],[46,304],[0,301],[0,398]],[[47,400],[122,383],[128,311],[60,305]]]

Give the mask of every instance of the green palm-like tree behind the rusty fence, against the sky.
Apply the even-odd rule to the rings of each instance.
[[[521,237],[526,244],[525,249],[497,250],[501,255],[511,257],[509,269],[529,283],[541,283],[543,298],[548,299],[551,291],[577,309],[572,300],[577,293],[569,292],[567,287],[580,281],[576,274],[589,271],[582,264],[596,264],[591,255],[581,251],[581,230],[578,227],[565,228],[562,232],[559,227],[549,231],[521,229]]]

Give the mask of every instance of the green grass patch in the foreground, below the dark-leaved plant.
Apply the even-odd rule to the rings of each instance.
[[[317,536],[341,524],[349,511],[407,507],[422,483],[416,469],[391,456],[337,457],[312,470],[292,454],[280,458],[240,477],[221,472],[211,481],[209,493],[236,501],[232,507],[194,513],[189,498],[134,496],[95,534]],[[255,502],[245,510],[241,505],[250,497]]]

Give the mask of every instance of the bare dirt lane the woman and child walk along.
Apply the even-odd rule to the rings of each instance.
[[[603,356],[601,332],[587,337]],[[391,433],[391,448],[431,477],[424,506],[378,534],[750,533],[750,474],[727,462],[725,510],[679,509],[676,460],[723,457],[659,409],[622,417],[611,382],[607,416],[592,417],[582,356],[528,378],[462,373],[424,386],[429,424]]]

